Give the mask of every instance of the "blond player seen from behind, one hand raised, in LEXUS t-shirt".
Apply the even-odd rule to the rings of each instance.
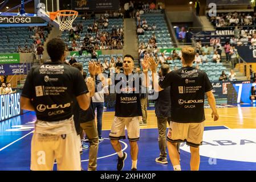
[[[202,144],[204,132],[204,98],[212,108],[212,118],[217,121],[219,116],[212,93],[213,86],[205,72],[192,67],[196,52],[192,47],[182,48],[182,68],[168,73],[161,81],[156,76],[157,64],[149,58],[155,89],[168,88],[172,101],[171,121],[168,131],[168,151],[174,171],[180,171],[180,156],[177,142],[186,142],[190,146],[190,169],[198,170],[200,166],[199,146]]]

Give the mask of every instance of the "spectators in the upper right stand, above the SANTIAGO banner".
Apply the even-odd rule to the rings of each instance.
[[[210,17],[210,21],[215,27],[251,26],[256,25],[256,13],[222,13]]]

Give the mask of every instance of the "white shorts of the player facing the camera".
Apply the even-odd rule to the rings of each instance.
[[[128,139],[131,142],[136,142],[140,139],[139,117],[115,117],[109,138],[113,140],[125,139],[125,126],[127,127],[128,131]]]

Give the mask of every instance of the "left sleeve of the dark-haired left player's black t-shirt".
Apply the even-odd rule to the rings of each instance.
[[[25,85],[23,86],[21,96],[26,98],[32,98],[34,96],[34,82],[32,80],[32,72],[34,71],[34,68],[31,69],[29,74],[27,75],[27,79],[25,82]]]

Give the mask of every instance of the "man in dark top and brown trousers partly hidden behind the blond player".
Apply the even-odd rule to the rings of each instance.
[[[162,64],[159,71],[160,80],[170,72],[168,64]],[[157,163],[168,164],[166,152],[166,123],[170,125],[170,86],[159,92],[159,97],[155,102],[155,113],[157,117],[157,128],[159,130],[159,150],[160,156],[156,158]],[[177,150],[180,149],[180,143],[177,144]]]

